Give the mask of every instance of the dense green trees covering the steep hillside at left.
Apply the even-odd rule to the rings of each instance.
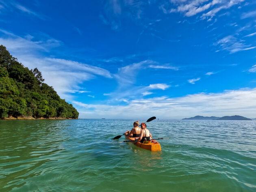
[[[0,118],[33,116],[78,118],[77,110],[43,83],[41,72],[29,70],[0,45]]]

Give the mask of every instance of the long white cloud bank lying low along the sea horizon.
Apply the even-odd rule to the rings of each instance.
[[[184,97],[154,97],[134,99],[127,106],[93,105],[74,101],[80,118],[146,118],[161,119],[191,117],[195,115],[255,116],[256,88],[224,91],[223,93],[198,93]],[[232,105],[230,105],[232,104]]]

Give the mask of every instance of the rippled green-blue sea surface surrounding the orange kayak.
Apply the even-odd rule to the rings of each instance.
[[[256,192],[256,121],[156,119],[151,152],[111,140],[135,120],[0,121],[0,191]]]

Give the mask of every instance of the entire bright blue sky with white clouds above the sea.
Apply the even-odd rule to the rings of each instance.
[[[256,117],[253,0],[0,0],[0,44],[80,118]]]

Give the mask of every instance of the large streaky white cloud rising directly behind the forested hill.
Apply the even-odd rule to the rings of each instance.
[[[33,41],[34,37],[26,35],[19,37],[5,30],[0,30],[1,44],[21,62],[25,67],[41,71],[45,83],[52,86],[61,98],[72,99],[70,93],[87,93],[81,90],[79,84],[91,80],[97,76],[112,78],[112,74],[100,67],[61,58],[43,57],[45,52],[50,52],[54,47],[62,45],[56,39],[42,37],[39,41]]]

